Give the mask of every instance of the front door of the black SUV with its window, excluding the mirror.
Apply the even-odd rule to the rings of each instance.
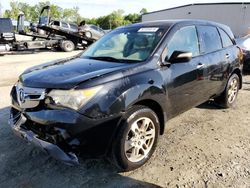
[[[206,67],[202,64],[195,26],[185,26],[177,30],[166,48],[169,56],[174,51],[191,52],[193,56],[189,62],[162,67],[168,116],[171,118],[202,103],[208,97],[203,90]]]

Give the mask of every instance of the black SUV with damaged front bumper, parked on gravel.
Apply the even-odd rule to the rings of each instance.
[[[105,154],[143,165],[167,120],[211,98],[235,104],[242,53],[229,27],[208,21],[118,28],[78,57],[26,70],[11,91],[10,124],[65,163]]]

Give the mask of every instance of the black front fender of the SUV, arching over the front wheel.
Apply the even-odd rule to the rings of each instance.
[[[91,118],[109,117],[121,114],[133,104],[142,100],[165,103],[162,76],[156,70],[149,70],[104,85],[104,89],[93,98],[81,113]]]

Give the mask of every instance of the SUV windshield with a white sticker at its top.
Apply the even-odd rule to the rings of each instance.
[[[81,57],[117,62],[145,61],[156,48],[165,29],[133,27],[117,29],[90,46]]]

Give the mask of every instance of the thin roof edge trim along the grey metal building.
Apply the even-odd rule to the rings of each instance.
[[[167,11],[167,10],[174,10],[174,9],[178,9],[178,8],[184,8],[184,7],[189,7],[189,6],[200,6],[200,5],[250,5],[250,2],[225,2],[225,3],[193,3],[193,4],[187,4],[187,5],[182,5],[182,6],[178,6],[178,7],[172,7],[172,8],[167,8],[167,9],[162,9],[162,10],[157,10],[157,11],[152,11],[152,12],[148,12],[145,13],[143,15],[147,15],[147,14],[152,14],[152,13],[157,13],[157,12],[162,12],[162,11]]]

